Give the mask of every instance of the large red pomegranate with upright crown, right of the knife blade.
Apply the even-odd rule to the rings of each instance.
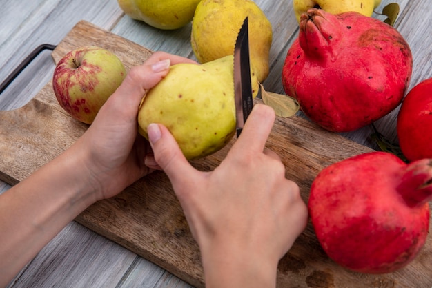
[[[353,131],[393,111],[411,79],[413,57],[395,28],[357,12],[311,8],[282,70],[285,93],[329,131]]]

